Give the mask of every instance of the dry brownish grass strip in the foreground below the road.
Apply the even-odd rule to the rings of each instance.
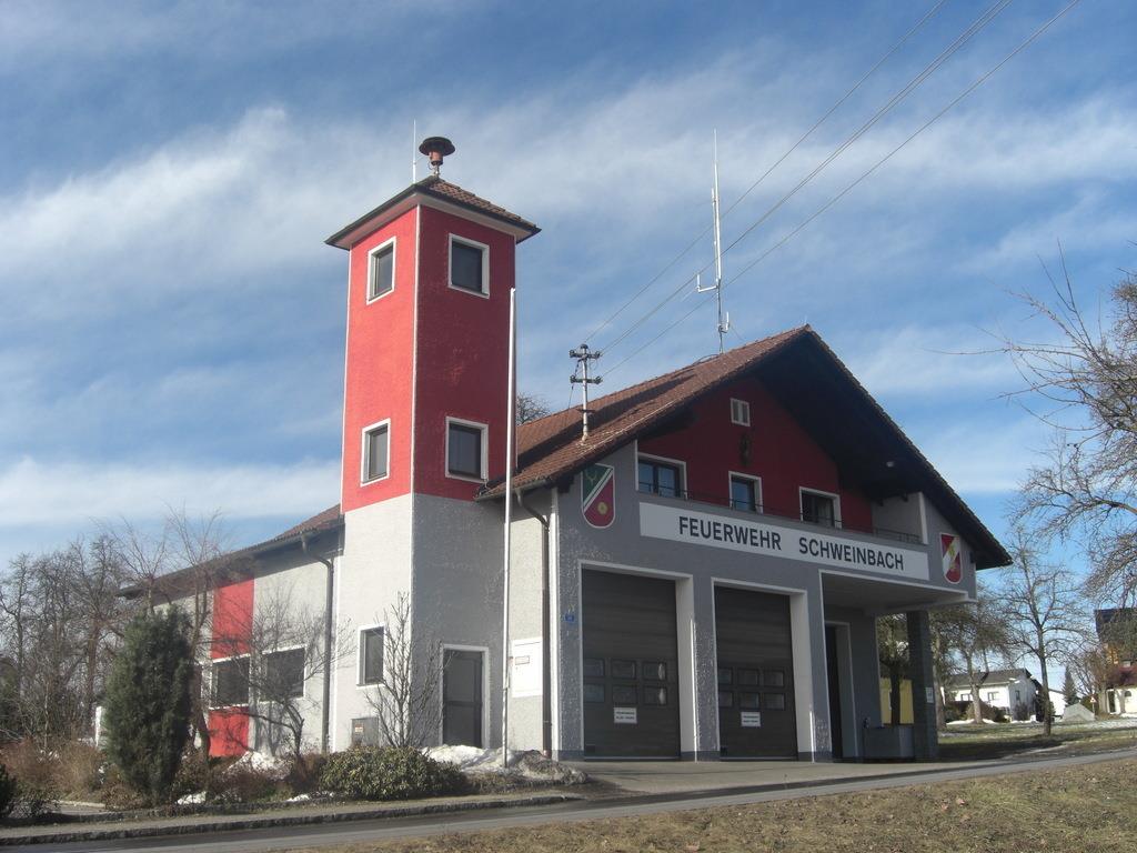
[[[1131,851],[1137,760],[752,806],[337,847],[339,853]]]

